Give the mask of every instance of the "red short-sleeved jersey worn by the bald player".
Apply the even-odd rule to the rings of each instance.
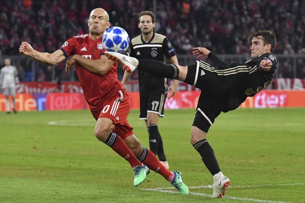
[[[102,37],[94,41],[89,38],[88,34],[70,38],[60,49],[66,57],[79,54],[89,59],[100,59],[101,54],[106,51],[102,44]],[[104,75],[90,73],[78,63],[75,66],[85,98],[93,111],[100,110],[107,98],[111,98],[118,90],[123,88],[121,82],[117,79],[117,63],[114,63]]]

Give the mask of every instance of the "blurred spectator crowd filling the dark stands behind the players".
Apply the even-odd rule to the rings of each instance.
[[[305,53],[305,2],[302,0],[156,2],[155,31],[172,41],[177,54],[189,54],[196,46],[218,54],[248,53],[245,42],[249,33],[269,27],[278,39],[276,54]],[[66,39],[87,33],[89,12],[97,7],[109,11],[112,25],[124,27],[132,38],[139,35],[138,13],[153,10],[154,1],[6,1],[0,4],[0,55],[18,54],[21,41],[31,43],[38,51],[52,52]],[[300,65],[303,62],[298,61]],[[305,67],[299,68],[305,74]],[[289,77],[289,67],[282,74]]]

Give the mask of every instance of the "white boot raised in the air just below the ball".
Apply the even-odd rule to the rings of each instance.
[[[123,70],[126,70],[128,73],[134,72],[139,64],[138,59],[117,52],[105,51],[105,56],[112,61],[123,64]]]

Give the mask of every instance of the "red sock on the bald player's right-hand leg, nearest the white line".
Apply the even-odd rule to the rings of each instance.
[[[147,165],[151,170],[157,172],[161,176],[163,176],[167,181],[171,182],[174,175],[160,163],[157,159],[156,155],[147,150],[147,154],[145,159],[142,161],[145,165]]]

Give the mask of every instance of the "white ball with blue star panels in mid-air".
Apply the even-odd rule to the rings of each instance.
[[[107,51],[124,53],[129,46],[129,36],[125,29],[109,27],[103,35],[103,46]]]

